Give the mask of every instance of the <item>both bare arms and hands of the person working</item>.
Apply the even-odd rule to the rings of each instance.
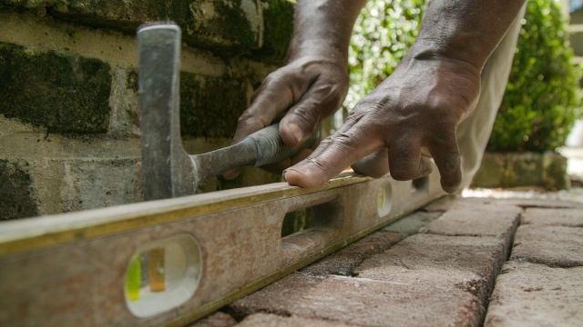
[[[233,142],[281,118],[280,134],[296,145],[343,102],[347,49],[363,0],[299,0],[288,64],[270,74],[240,117]],[[442,188],[462,180],[455,129],[474,109],[480,73],[524,0],[434,0],[414,45],[384,82],[353,108],[345,124],[307,157],[276,164],[292,185],[325,183],[346,167],[395,180],[430,173]],[[304,159],[305,158],[305,159]],[[302,160],[303,159],[303,160]],[[230,172],[234,177],[239,172]]]

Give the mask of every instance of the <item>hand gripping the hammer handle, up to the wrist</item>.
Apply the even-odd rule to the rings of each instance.
[[[343,55],[302,56],[269,74],[251,97],[251,106],[240,116],[233,144],[280,120],[283,142],[296,146],[308,139],[326,116],[343,103],[348,90],[348,69]],[[266,168],[279,172],[298,163],[318,145]],[[239,170],[223,176],[239,175]]]

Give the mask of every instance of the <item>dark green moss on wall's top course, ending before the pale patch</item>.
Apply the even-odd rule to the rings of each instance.
[[[139,25],[174,21],[188,45],[215,54],[243,54],[257,48],[258,34],[241,9],[241,0],[0,0],[15,10],[46,8],[56,19],[99,28],[111,28],[135,35]],[[202,8],[213,8],[212,13]],[[226,53],[225,53],[226,52]]]

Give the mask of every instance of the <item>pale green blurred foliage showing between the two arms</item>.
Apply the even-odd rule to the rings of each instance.
[[[413,45],[421,25],[424,0],[369,0],[354,25],[349,48],[352,108],[384,81]]]

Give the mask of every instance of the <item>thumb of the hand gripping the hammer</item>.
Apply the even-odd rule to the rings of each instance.
[[[338,110],[344,94],[345,90],[339,84],[318,81],[312,84],[302,99],[281,119],[280,134],[283,142],[290,146],[301,144],[323,118]]]

